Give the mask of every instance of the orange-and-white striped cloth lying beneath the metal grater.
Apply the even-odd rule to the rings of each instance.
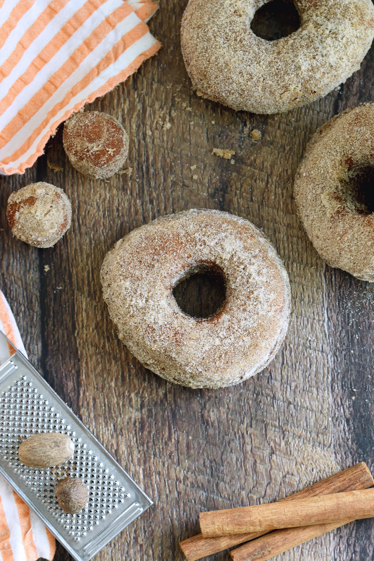
[[[0,291],[0,330],[27,357],[8,302]],[[40,518],[0,475],[0,561],[52,561],[56,542]]]

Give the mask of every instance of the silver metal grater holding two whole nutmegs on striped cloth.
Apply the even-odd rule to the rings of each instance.
[[[69,435],[74,456],[59,468],[26,467],[18,458],[22,439],[48,432]],[[76,561],[91,559],[153,504],[1,332],[0,473]],[[54,494],[66,476],[80,477],[89,491],[76,514],[63,512]]]

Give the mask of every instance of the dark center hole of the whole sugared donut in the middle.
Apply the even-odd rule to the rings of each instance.
[[[218,265],[202,263],[188,271],[173,288],[179,308],[196,320],[218,314],[226,300],[226,281]]]

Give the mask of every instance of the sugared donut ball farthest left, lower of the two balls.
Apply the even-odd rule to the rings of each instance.
[[[13,236],[31,246],[52,247],[71,226],[71,203],[50,183],[31,183],[8,199],[7,218]]]

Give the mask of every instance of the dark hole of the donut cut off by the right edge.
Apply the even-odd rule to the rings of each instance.
[[[374,167],[365,165],[353,169],[341,183],[340,191],[348,209],[359,214],[374,213]]]

